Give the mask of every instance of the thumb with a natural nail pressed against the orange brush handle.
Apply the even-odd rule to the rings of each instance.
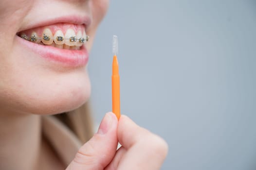
[[[116,152],[117,124],[116,116],[107,113],[98,132],[79,149],[66,170],[103,170]]]

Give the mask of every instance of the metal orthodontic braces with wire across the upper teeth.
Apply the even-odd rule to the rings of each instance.
[[[69,39],[70,42],[76,42],[78,41],[79,43],[85,43],[89,41],[90,37],[86,35],[85,38],[80,37],[79,39],[76,38],[76,36],[71,36],[70,38],[64,38],[63,36],[56,36],[56,37],[50,37],[49,35],[46,35],[45,33],[43,34],[43,37],[36,37],[36,35],[32,35],[31,37],[27,36],[26,34],[20,35],[21,38],[35,42],[37,39],[43,39],[45,41],[50,41],[50,39],[56,39],[57,41],[64,41],[64,39]]]

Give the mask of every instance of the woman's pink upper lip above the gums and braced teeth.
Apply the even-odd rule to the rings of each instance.
[[[70,16],[61,16],[61,17],[54,17],[50,19],[40,20],[31,22],[31,24],[26,25],[24,28],[18,30],[18,32],[29,30],[32,28],[53,25],[55,23],[72,23],[76,25],[84,25],[85,29],[89,27],[91,24],[91,17],[89,16],[77,16],[77,15],[70,15]]]

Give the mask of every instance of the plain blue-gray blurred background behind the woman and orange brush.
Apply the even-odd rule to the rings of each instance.
[[[89,63],[97,122],[113,34],[121,111],[168,142],[162,170],[256,170],[255,1],[110,0]]]

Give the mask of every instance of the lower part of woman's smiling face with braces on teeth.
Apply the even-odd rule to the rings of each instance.
[[[107,8],[108,0],[0,0],[0,112],[55,114],[85,103],[88,52]]]

